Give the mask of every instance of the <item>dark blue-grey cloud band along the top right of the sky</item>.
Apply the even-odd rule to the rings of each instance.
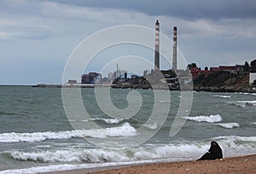
[[[55,0],[55,2],[92,8],[127,9],[149,15],[175,16],[186,20],[256,17],[256,2],[254,0]]]

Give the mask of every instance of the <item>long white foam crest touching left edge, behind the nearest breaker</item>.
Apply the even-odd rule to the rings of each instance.
[[[42,142],[48,139],[70,139],[85,136],[107,138],[111,136],[136,136],[137,131],[130,124],[125,123],[118,127],[78,131],[46,131],[32,133],[3,133],[0,142]]]

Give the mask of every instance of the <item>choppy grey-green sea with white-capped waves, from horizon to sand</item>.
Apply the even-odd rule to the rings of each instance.
[[[69,89],[71,94],[72,90],[78,89]],[[256,153],[255,93],[192,91],[191,110],[181,115],[182,128],[170,136],[183,97],[180,91],[170,91],[170,101],[155,101],[154,90],[135,90],[142,99],[139,111],[115,118],[99,107],[95,89],[79,90],[90,115],[79,115],[79,123],[97,128],[78,130],[74,126],[63,105],[61,88],[0,86],[0,174],[195,160],[207,152],[212,141],[218,142],[224,158]],[[127,108],[131,91],[110,89],[110,102],[119,110]],[[147,122],[155,102],[170,104],[166,118],[158,116],[165,119],[162,125]],[[119,139],[133,142],[140,136],[139,130],[154,133],[135,146],[104,146],[111,138],[116,144],[122,143]]]

